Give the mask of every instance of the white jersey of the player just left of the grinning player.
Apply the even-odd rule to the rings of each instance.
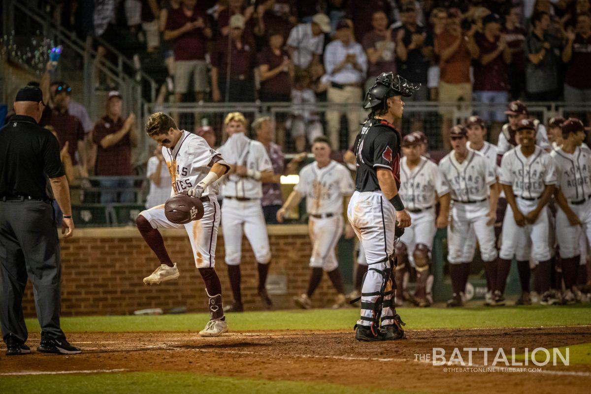
[[[463,203],[486,200],[491,185],[496,182],[494,168],[490,168],[480,152],[468,151],[460,164],[452,151],[439,162],[446,185],[439,193],[451,193],[452,200]]]

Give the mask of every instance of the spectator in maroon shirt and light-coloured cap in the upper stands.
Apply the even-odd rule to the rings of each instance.
[[[244,22],[242,15],[232,15],[230,34],[216,43],[212,56],[212,95],[216,102],[254,101],[252,70],[255,67],[255,48],[243,37]],[[230,79],[226,80],[228,74]]]

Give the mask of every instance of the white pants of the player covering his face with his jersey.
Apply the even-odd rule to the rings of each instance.
[[[267,224],[262,213],[261,200],[238,201],[224,198],[222,209],[222,233],[225,261],[228,265],[239,265],[242,256],[242,231],[251,244],[256,262],[267,264],[271,261],[271,248],[267,235]]]

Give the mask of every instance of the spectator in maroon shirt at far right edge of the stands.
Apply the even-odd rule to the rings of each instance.
[[[591,102],[591,15],[577,15],[576,29],[567,31],[566,35],[562,52],[562,60],[567,64],[564,101],[583,105]]]

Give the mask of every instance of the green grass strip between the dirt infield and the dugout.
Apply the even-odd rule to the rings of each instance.
[[[591,324],[588,305],[563,307],[503,307],[503,308],[400,308],[402,320],[410,330],[434,328],[494,328],[550,327],[553,325]],[[290,310],[272,312],[243,312],[229,314],[230,331],[251,330],[352,330],[359,311]],[[209,320],[209,314],[161,316],[101,316],[64,317],[61,327],[66,333],[85,331],[199,331]],[[40,331],[36,319],[27,319],[32,332]]]

